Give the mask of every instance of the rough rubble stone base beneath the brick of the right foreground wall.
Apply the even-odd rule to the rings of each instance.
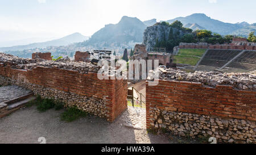
[[[188,122],[179,122],[175,124],[168,124],[162,122],[168,130],[174,135],[194,137],[197,135],[204,135],[210,137],[216,137],[218,143],[256,143],[255,136],[255,122],[245,121],[240,119],[221,119],[213,118],[211,116],[189,114],[185,112],[164,111],[160,112],[159,108],[150,110],[150,114],[156,115],[156,119],[153,119],[152,126],[159,128],[159,119],[162,115],[168,117],[171,122],[179,122],[179,120],[185,120],[188,116],[191,116]],[[161,115],[162,114],[162,115]],[[214,125],[212,125],[214,124]]]

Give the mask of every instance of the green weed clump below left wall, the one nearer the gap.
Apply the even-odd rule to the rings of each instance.
[[[60,116],[61,120],[65,122],[73,122],[79,118],[84,118],[88,115],[88,113],[79,110],[77,107],[68,108],[65,112],[63,112]]]

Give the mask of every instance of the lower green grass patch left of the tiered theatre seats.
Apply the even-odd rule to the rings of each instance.
[[[188,65],[195,66],[199,60],[200,60],[200,58],[198,58],[198,57],[174,56],[175,64],[188,64]]]

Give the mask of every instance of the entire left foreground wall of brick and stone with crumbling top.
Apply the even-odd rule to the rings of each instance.
[[[61,61],[29,64],[31,60],[1,56],[0,85],[26,87],[43,98],[63,100],[67,107],[77,106],[110,122],[127,108],[127,81],[100,80],[97,66]]]

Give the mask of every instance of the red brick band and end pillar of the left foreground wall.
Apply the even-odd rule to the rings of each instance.
[[[123,79],[100,80],[97,73],[81,74],[72,70],[44,68],[42,66],[32,70],[18,70],[11,69],[10,66],[0,66],[0,74],[27,83],[86,97],[102,99],[107,96],[109,110],[107,119],[110,122],[113,122],[127,108],[127,81]]]

